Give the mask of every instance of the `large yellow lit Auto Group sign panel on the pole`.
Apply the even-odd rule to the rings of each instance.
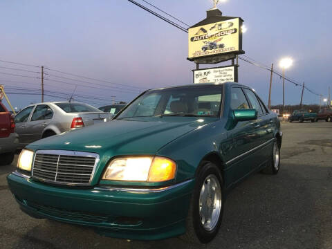
[[[225,53],[243,53],[242,22],[239,17],[236,17],[189,28],[188,59],[194,60],[198,57],[210,57]]]

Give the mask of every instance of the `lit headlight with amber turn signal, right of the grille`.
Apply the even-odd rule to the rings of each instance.
[[[102,180],[156,183],[174,179],[176,163],[160,156],[116,158],[107,166]]]

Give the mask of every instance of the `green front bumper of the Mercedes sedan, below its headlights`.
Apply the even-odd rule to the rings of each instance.
[[[109,237],[165,239],[185,232],[194,181],[160,190],[45,185],[13,173],[8,185],[21,210],[35,218],[87,225]]]

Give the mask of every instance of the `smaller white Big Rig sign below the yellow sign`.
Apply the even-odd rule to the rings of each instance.
[[[237,66],[193,70],[194,84],[237,82]]]

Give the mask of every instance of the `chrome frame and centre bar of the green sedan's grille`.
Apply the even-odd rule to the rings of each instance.
[[[42,178],[33,176],[33,169],[35,167],[35,158],[37,154],[50,154],[50,155],[58,155],[58,156],[84,156],[84,157],[91,157],[91,158],[95,158],[95,165],[93,165],[93,169],[91,172],[91,177],[89,179],[89,183],[66,183],[66,182],[59,182],[59,181],[47,181],[44,180]],[[57,158],[57,167],[59,165],[59,158]],[[35,151],[35,156],[33,157],[33,169],[31,171],[31,177],[35,178],[39,181],[43,181],[45,183],[52,183],[52,184],[56,184],[56,185],[68,185],[68,186],[89,186],[91,185],[91,181],[93,179],[93,176],[95,175],[95,169],[98,165],[100,161],[100,156],[97,153],[93,153],[93,152],[83,152],[83,151],[67,151],[67,150],[57,150],[57,149],[39,149],[37,151]],[[57,173],[56,173],[57,174]]]

